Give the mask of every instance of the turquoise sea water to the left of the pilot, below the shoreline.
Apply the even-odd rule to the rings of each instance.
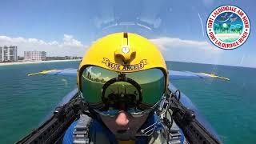
[[[78,62],[0,66],[0,143],[14,143],[36,128],[62,97],[76,87],[75,78],[26,76],[40,70],[78,67]]]

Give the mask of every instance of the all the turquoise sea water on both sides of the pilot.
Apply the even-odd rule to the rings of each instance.
[[[224,143],[254,143],[256,69],[167,62],[171,70],[214,73],[216,79],[174,81],[212,124]],[[78,62],[0,66],[0,143],[13,143],[38,126],[54,106],[76,87],[75,78],[26,74],[77,68]]]

